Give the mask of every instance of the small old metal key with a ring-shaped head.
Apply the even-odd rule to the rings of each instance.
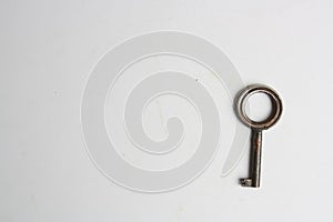
[[[263,121],[253,121],[245,113],[245,103],[254,93],[265,93],[272,103],[270,117]],[[252,84],[243,89],[235,101],[235,111],[239,119],[251,128],[250,178],[241,179],[242,186],[259,188],[261,173],[262,131],[274,125],[282,113],[282,101],[278,93],[263,84]]]

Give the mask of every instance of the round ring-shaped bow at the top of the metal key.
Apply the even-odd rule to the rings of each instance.
[[[265,93],[271,100],[272,111],[263,121],[251,120],[245,112],[248,99],[255,93]],[[273,89],[263,84],[251,84],[238,94],[235,100],[235,111],[239,119],[245,125],[252,128],[253,130],[266,130],[274,125],[280,119],[282,113],[282,101]]]

